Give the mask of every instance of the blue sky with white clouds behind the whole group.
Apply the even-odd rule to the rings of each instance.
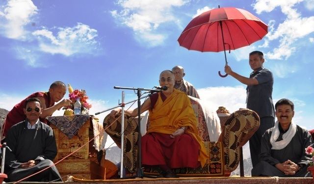
[[[274,74],[274,103],[292,100],[294,121],[314,129],[314,0],[1,0],[0,107],[10,110],[61,80],[86,90],[93,114],[118,104],[121,90],[113,86],[152,88],[160,71],[175,65],[213,109],[245,107],[246,86],[217,75],[222,52],[188,51],[177,42],[194,16],[218,5],[268,25],[261,41],[227,53],[232,69],[249,76],[248,53],[261,50]],[[126,101],[133,99],[126,91]]]

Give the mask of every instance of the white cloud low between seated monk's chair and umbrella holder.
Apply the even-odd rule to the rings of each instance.
[[[217,110],[219,106],[226,107],[231,113],[239,108],[245,108],[246,89],[243,86],[219,86],[197,89],[200,98]]]

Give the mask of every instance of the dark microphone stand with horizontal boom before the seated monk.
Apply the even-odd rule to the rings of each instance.
[[[151,93],[153,92],[160,92],[161,90],[156,90],[156,89],[144,89],[144,88],[132,88],[132,87],[120,87],[120,86],[114,86],[114,89],[131,89],[131,90],[136,90],[137,91],[137,129],[138,129],[138,138],[137,138],[137,148],[138,148],[138,159],[137,159],[137,177],[138,178],[143,178],[143,171],[142,171],[142,153],[141,153],[141,138],[142,138],[142,133],[141,133],[141,99],[144,98],[142,96],[142,91],[150,91]],[[151,94],[150,94],[151,95]],[[148,97],[150,95],[145,96]],[[136,101],[136,100],[135,100]],[[134,102],[134,101],[133,101]],[[121,139],[123,137],[121,136]],[[123,152],[123,151],[122,151]],[[122,162],[123,160],[121,160]]]

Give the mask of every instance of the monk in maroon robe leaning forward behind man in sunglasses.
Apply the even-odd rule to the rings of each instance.
[[[38,98],[40,103],[42,104],[43,111],[40,115],[40,121],[46,123],[45,118],[47,116],[51,116],[54,111],[60,109],[63,106],[68,106],[71,104],[71,100],[63,99],[60,101],[66,93],[66,85],[61,81],[55,81],[50,85],[48,92],[36,92],[29,95],[28,98]],[[24,99],[19,104],[15,105],[12,110],[7,114],[5,123],[4,123],[4,131],[3,135],[5,136],[7,131],[13,125],[25,120],[26,116],[23,108],[26,104],[26,99]],[[59,102],[60,101],[60,102]],[[59,102],[55,104],[56,102]]]

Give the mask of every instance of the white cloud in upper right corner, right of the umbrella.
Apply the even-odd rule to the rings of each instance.
[[[270,59],[288,59],[297,50],[293,43],[314,32],[314,16],[302,17],[294,8],[296,4],[302,1],[304,0],[257,0],[253,4],[258,14],[263,11],[271,12],[276,7],[280,7],[282,13],[287,16],[286,20],[279,24],[277,29],[275,29],[274,20],[269,22],[270,31],[265,39],[267,41],[279,39],[279,46],[267,53]],[[308,3],[309,1],[306,1],[306,4]],[[265,46],[268,46],[268,43]]]

